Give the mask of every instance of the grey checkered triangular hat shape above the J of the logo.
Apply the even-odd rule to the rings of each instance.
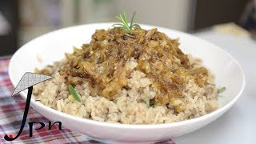
[[[14,94],[18,94],[22,90],[26,90],[28,87],[34,86],[40,82],[44,82],[50,78],[54,77],[44,74],[26,72],[22,76],[22,79],[18,82],[18,85],[15,87],[14,93],[11,94],[11,96],[13,96]]]

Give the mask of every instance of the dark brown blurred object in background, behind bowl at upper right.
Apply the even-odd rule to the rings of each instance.
[[[198,0],[194,30],[220,23],[238,23],[249,0]]]

